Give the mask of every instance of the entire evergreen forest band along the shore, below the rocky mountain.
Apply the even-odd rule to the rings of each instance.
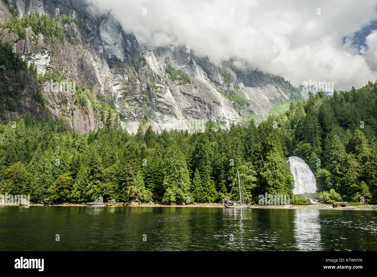
[[[31,194],[41,201],[105,199],[212,202],[226,195],[237,170],[253,200],[290,194],[287,157],[313,169],[321,190],[343,200],[376,202],[376,83],[349,92],[310,95],[258,126],[231,125],[202,133],[149,127],[129,134],[110,115],[103,128],[70,133],[51,118],[30,116],[0,127],[0,193]],[[106,118],[105,118],[106,117]],[[237,196],[234,194],[234,199]],[[291,199],[294,197],[291,197]],[[294,201],[294,199],[293,199]]]

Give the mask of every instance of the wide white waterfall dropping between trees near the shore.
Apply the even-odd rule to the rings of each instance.
[[[307,165],[299,157],[289,157],[289,166],[294,179],[294,194],[316,193],[316,177]]]

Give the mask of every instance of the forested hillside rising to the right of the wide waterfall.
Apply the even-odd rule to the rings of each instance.
[[[376,104],[377,81],[369,81],[332,97],[310,94],[284,115],[294,151],[313,168],[321,189],[334,189],[345,200],[376,202]]]

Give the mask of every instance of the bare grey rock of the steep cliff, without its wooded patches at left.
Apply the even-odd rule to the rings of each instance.
[[[31,28],[26,30],[25,41],[7,30],[0,36],[2,41],[12,41],[29,64],[34,62],[38,74],[52,70],[80,87],[88,84],[92,88],[85,107],[78,106],[76,96],[69,93],[43,91],[46,108],[77,132],[98,127],[100,108],[92,105],[97,100],[116,108],[128,132],[136,132],[140,123],[144,129],[152,125],[161,132],[190,130],[208,119],[218,127],[228,127],[247,115],[265,115],[294,93],[284,78],[238,69],[231,62],[215,65],[193,51],[186,52],[184,46],[140,47],[135,35],[124,32],[110,15],[94,15],[84,0],[12,0],[11,4],[16,5],[19,16],[39,12],[54,17],[58,11],[80,22],[79,26],[65,24],[64,42],[55,39],[52,45]],[[4,4],[0,8],[4,21],[11,14]],[[182,76],[172,78],[167,66],[182,70],[189,81]]]

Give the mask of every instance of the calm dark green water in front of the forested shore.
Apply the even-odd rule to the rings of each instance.
[[[0,250],[377,250],[377,212],[2,206]]]

